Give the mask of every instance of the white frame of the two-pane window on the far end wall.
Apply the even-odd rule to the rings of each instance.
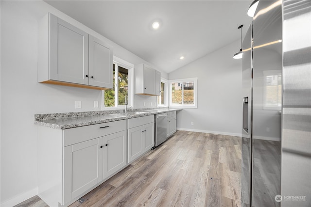
[[[172,103],[172,83],[174,82],[180,82],[183,83],[182,84],[182,96],[183,96],[183,85],[185,82],[193,82],[193,104],[180,104],[180,105],[174,105]],[[170,108],[198,108],[198,78],[188,78],[188,79],[175,79],[175,80],[169,80],[169,97],[170,97],[170,101],[169,101],[169,107]],[[183,99],[183,97],[182,97]]]

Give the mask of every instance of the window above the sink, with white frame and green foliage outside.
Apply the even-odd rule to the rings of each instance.
[[[102,110],[123,109],[125,96],[128,97],[128,106],[133,106],[133,70],[134,65],[114,56],[113,61],[113,89],[102,93]]]

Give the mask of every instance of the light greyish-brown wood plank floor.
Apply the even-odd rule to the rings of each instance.
[[[46,206],[32,199],[17,207]],[[240,207],[241,138],[177,131],[82,200],[70,207]]]

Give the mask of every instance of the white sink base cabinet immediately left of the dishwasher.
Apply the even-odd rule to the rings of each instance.
[[[146,124],[147,123],[147,124]],[[155,145],[154,116],[128,120],[128,162],[140,157]]]

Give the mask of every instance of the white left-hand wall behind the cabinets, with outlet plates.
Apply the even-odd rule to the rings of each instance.
[[[98,90],[37,83],[37,22],[52,12],[111,44],[115,56],[132,64],[149,63],[43,1],[1,0],[0,3],[0,203],[1,206],[13,206],[37,194],[37,132],[34,114],[96,111],[100,109],[93,108],[93,101],[101,103],[101,91]],[[161,74],[167,77],[166,73]],[[152,97],[154,99],[155,96]],[[82,101],[81,109],[74,108],[75,100]]]

